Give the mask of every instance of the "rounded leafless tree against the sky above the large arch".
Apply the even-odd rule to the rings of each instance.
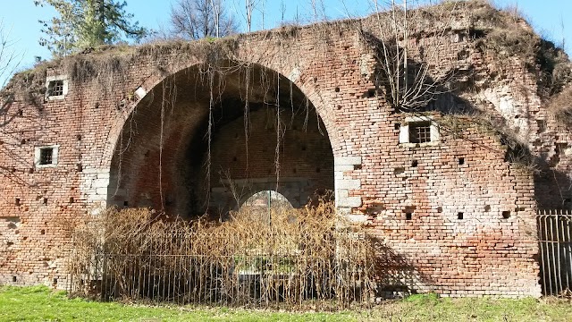
[[[178,0],[171,7],[171,36],[185,39],[224,37],[237,32],[223,0]]]

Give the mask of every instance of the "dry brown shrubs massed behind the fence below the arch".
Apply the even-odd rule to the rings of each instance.
[[[374,243],[332,202],[241,208],[223,223],[108,209],[72,236],[72,289],[101,300],[341,308],[373,296]]]

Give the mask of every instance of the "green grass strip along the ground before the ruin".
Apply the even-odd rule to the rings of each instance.
[[[374,309],[291,313],[246,309],[146,307],[68,299],[47,287],[0,287],[0,321],[572,321],[556,299],[442,299],[434,294],[385,301]]]

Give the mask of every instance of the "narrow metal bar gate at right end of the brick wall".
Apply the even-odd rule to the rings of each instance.
[[[543,210],[536,217],[540,247],[540,277],[544,295],[572,290],[572,214]]]

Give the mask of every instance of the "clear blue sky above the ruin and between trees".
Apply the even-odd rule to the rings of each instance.
[[[128,12],[135,15],[135,20],[144,27],[157,30],[169,21],[171,5],[176,0],[127,0]],[[258,0],[264,1],[264,0]],[[380,0],[382,3],[388,0]],[[402,0],[397,0],[401,2]],[[409,0],[415,2],[414,0]],[[242,8],[244,0],[226,0],[228,9],[237,16],[242,30],[246,29]],[[425,3],[436,3],[437,0],[423,0]],[[13,40],[13,49],[22,55],[19,70],[29,68],[34,64],[34,57],[44,59],[51,57],[44,47],[40,47],[38,39],[41,37],[38,20],[49,20],[54,12],[49,7],[36,7],[33,0],[0,0],[3,10],[0,19],[4,23],[4,30],[9,31],[9,38]],[[285,5],[285,21],[292,21],[298,13],[299,16],[311,16],[311,0],[265,0],[265,29],[273,28],[282,21],[281,3]],[[370,13],[372,0],[324,0],[325,14],[328,18],[338,19],[351,15],[365,15]],[[551,39],[560,44],[565,39],[565,48],[568,55],[572,54],[572,13],[571,0],[496,0],[493,2],[499,8],[517,8],[544,38]],[[253,30],[262,28],[261,14],[257,13]],[[4,79],[0,79],[0,85]]]

